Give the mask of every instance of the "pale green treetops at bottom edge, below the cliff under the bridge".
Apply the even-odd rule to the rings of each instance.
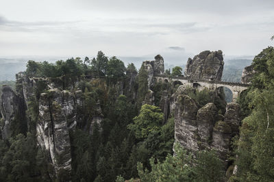
[[[141,181],[222,181],[223,168],[221,160],[214,151],[200,151],[197,158],[175,145],[176,155],[167,155],[164,162],[149,160],[151,170],[145,169],[138,162],[138,175]],[[116,178],[116,182],[125,181],[123,177]],[[131,181],[134,181],[133,179]]]

